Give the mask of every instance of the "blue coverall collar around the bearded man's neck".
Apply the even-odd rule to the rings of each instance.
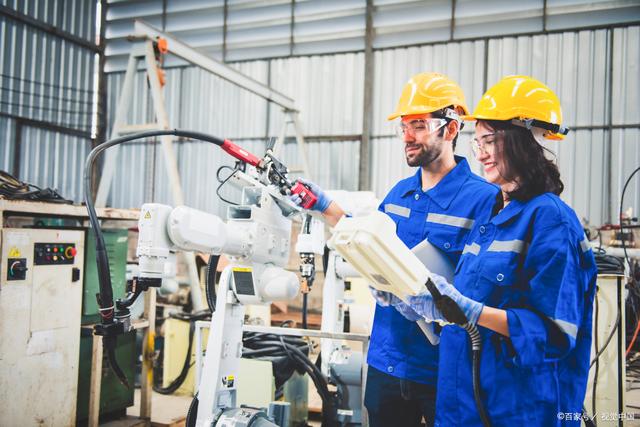
[[[464,183],[471,174],[467,159],[460,156],[454,156],[456,167],[442,178],[442,180],[426,194],[438,204],[442,209],[447,209],[453,199],[456,197]],[[407,197],[415,193],[424,193],[422,191],[422,170],[417,168],[415,175],[410,178],[408,188],[402,193],[401,197]]]

